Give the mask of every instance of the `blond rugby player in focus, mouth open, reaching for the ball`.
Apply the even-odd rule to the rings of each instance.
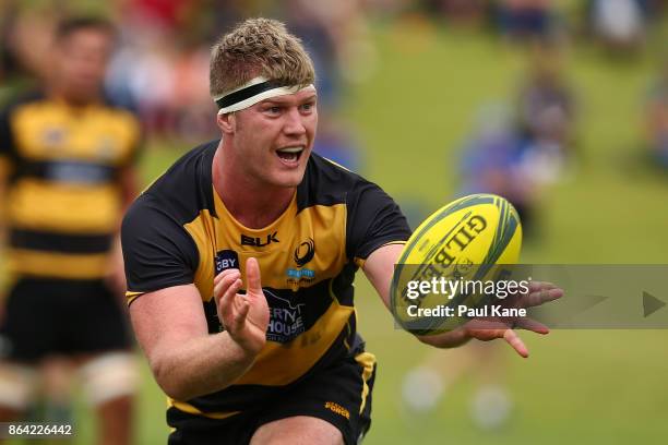
[[[311,153],[313,81],[282,23],[237,25],[211,56],[220,140],[123,220],[130,315],[169,396],[169,444],[355,444],[369,428],[375,360],[353,280],[361,268],[389,304],[410,230],[378,185]],[[422,340],[470,337],[526,354],[505,325]]]

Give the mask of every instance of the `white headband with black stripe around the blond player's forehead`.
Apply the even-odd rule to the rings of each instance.
[[[260,76],[252,79],[250,82],[231,92],[214,97],[214,100],[220,108],[218,115],[225,115],[251,107],[270,97],[286,96],[308,89],[315,91],[315,87],[313,84],[307,85],[303,88],[297,85],[285,86]]]

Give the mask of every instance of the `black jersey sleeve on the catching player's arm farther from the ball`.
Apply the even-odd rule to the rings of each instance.
[[[140,196],[126,214],[121,243],[129,302],[145,292],[194,281],[194,241],[150,195]]]

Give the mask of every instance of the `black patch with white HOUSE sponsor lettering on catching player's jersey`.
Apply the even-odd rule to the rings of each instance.
[[[278,296],[276,291],[262,290],[270,305],[267,340],[287,344],[306,330],[302,320],[302,308],[306,304],[290,301],[288,298]]]

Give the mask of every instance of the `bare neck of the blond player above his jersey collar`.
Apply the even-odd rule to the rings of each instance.
[[[214,190],[227,211],[243,226],[260,229],[278,219],[293,201],[295,188],[267,188],[243,175],[225,173],[222,151],[214,155],[212,178]]]

